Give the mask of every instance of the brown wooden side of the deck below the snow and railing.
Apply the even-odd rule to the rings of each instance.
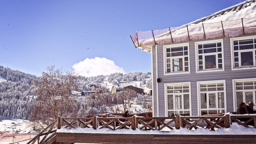
[[[56,133],[56,142],[102,144],[256,144],[256,135],[128,135]]]

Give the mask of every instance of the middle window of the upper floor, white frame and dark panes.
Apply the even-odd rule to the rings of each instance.
[[[195,42],[195,46],[197,72],[224,70],[222,39]]]

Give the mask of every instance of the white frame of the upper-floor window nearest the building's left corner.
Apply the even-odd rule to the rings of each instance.
[[[170,61],[171,61],[171,72],[167,73],[167,54],[166,54],[166,49],[167,48],[175,48],[175,47],[184,47],[187,46],[187,56],[175,56],[175,57],[171,57]],[[189,60],[189,43],[181,43],[181,44],[172,44],[172,45],[164,45],[163,46],[163,51],[164,51],[164,75],[174,75],[174,74],[188,74],[190,73],[190,60]],[[177,72],[172,72],[172,59],[175,58],[183,58],[183,68],[185,66],[184,64],[184,57],[188,57],[188,71],[177,71]],[[185,70],[185,68],[184,68]]]

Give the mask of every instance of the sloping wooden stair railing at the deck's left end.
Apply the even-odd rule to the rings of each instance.
[[[54,136],[56,135],[57,120],[52,122],[49,126],[47,126],[43,131],[41,131],[36,137],[32,138],[27,144],[34,144],[37,142],[38,144],[44,144],[46,142],[52,141],[54,142]],[[41,140],[40,137],[44,136]],[[50,142],[50,143],[52,143]]]

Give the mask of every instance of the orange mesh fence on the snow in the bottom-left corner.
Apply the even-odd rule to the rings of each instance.
[[[26,144],[37,136],[38,133],[16,133],[0,131],[0,144]]]

